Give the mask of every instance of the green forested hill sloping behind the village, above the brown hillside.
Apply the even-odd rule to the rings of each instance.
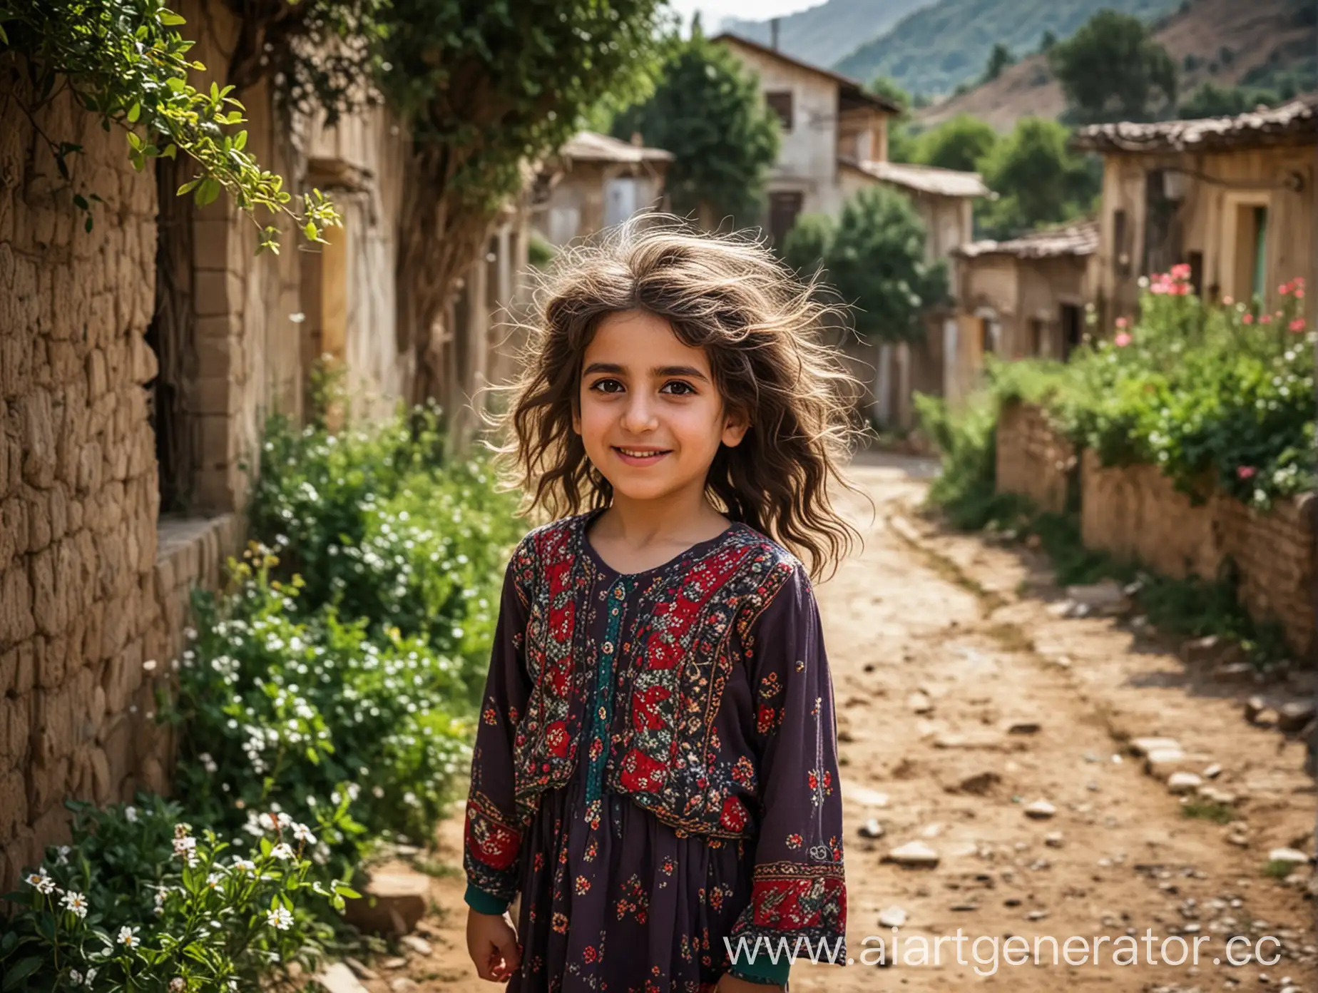
[[[837,62],[838,73],[870,80],[892,76],[912,94],[950,94],[974,83],[992,46],[1016,55],[1039,49],[1044,32],[1069,38],[1102,8],[1153,20],[1178,0],[938,0],[907,15],[892,30]],[[1239,0],[1251,5],[1248,0]]]

